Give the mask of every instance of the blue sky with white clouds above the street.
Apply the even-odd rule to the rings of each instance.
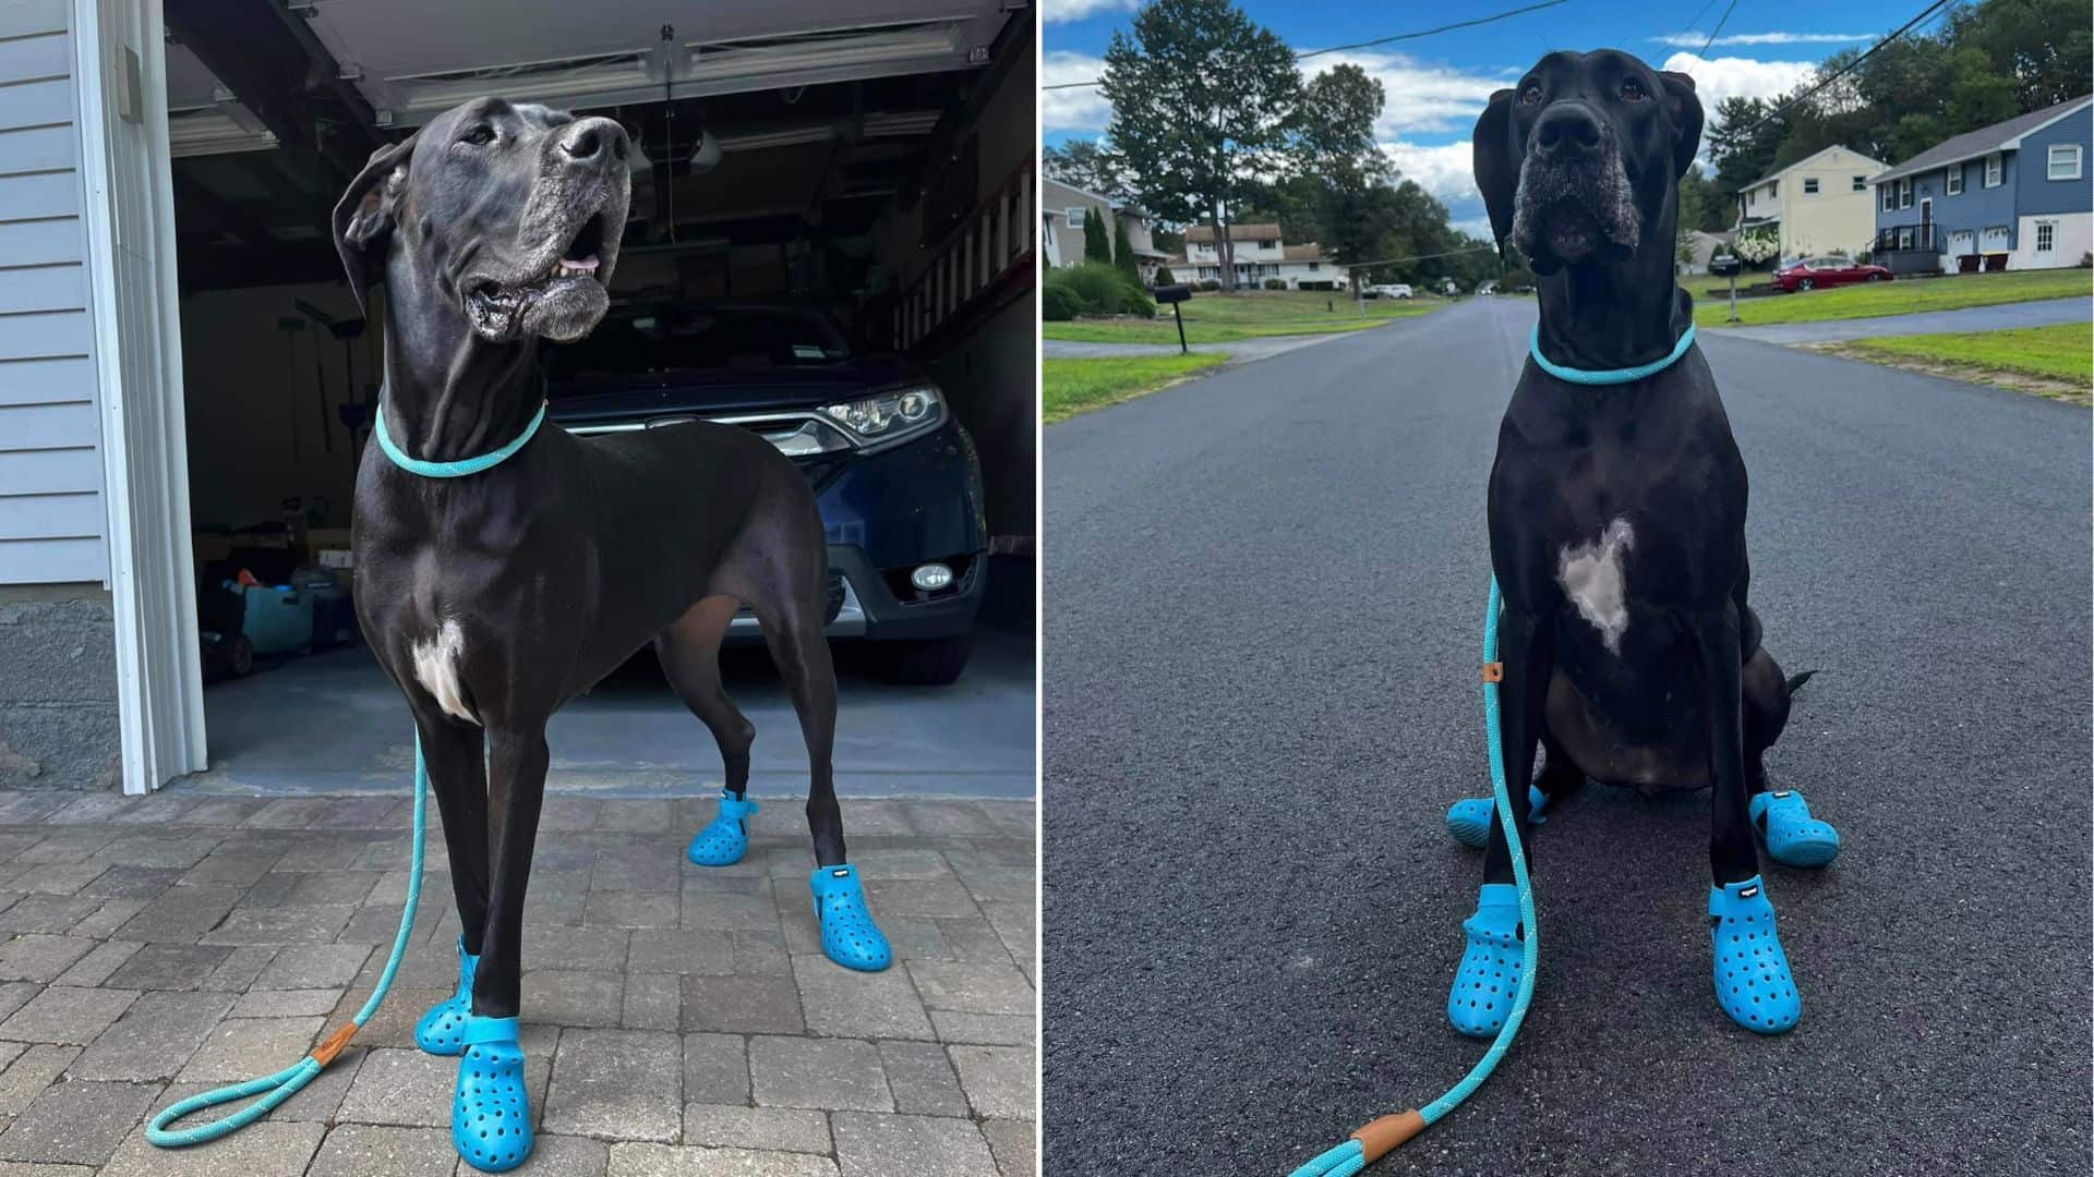
[[[1361,0],[1238,0],[1252,21],[1298,50],[1363,42],[1390,34],[1518,8],[1533,0],[1451,0],[1443,4],[1367,4]],[[1491,90],[1510,86],[1552,48],[1629,50],[1661,69],[1694,75],[1702,105],[1730,94],[1788,90],[1826,54],[1866,46],[1903,25],[1924,0],[1738,0],[1707,59],[1696,59],[1730,0],[1568,0],[1491,25],[1457,29],[1369,50],[1317,57],[1307,69],[1340,61],[1382,80],[1388,105],[1376,128],[1405,176],[1441,197],[1453,222],[1480,232],[1483,199],[1470,180],[1470,128]],[[1041,82],[1097,77],[1114,29],[1129,27],[1139,0],[1039,0],[1045,21]],[[1931,23],[1929,23],[1931,27]],[[1097,90],[1041,94],[1047,142],[1095,138],[1110,117]]]

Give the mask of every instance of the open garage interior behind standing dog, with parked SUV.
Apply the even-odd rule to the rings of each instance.
[[[398,785],[389,739],[337,739],[346,714],[358,731],[398,720],[398,697],[358,647],[348,568],[383,341],[341,281],[329,212],[373,149],[500,94],[614,117],[637,147],[614,310],[601,346],[549,358],[553,417],[580,434],[706,417],[779,444],[829,524],[829,632],[859,651],[844,666],[867,691],[965,668],[984,706],[972,727],[944,712],[942,735],[905,723],[854,750],[846,725],[840,781],[856,762],[871,792],[882,775],[967,792],[884,762],[957,737],[955,781],[1030,790],[1026,6],[165,0],[165,17],[199,591],[195,626],[168,641],[201,635],[220,683],[205,693],[216,777]],[[919,417],[859,436],[850,413],[886,402]],[[1024,622],[970,624],[999,614]],[[649,683],[591,699],[603,714],[563,716],[570,781],[708,771],[710,741],[647,662]],[[239,681],[258,666],[266,679]],[[760,714],[766,691],[758,674],[745,710],[794,731],[781,693]],[[990,704],[1026,731],[1001,731]],[[651,752],[637,771],[630,750],[664,743],[693,762]],[[796,741],[764,743],[779,773],[804,775]]]

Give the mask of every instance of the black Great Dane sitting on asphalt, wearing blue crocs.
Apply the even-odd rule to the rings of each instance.
[[[1786,681],[1746,603],[1746,475],[1673,285],[1677,182],[1694,165],[1694,80],[1614,50],[1552,52],[1476,119],[1476,186],[1499,243],[1541,276],[1533,358],[1491,467],[1491,568],[1503,685],[1499,748],[1520,844],[1585,777],[1713,790],[1709,890],[1717,1005],[1778,1035],[1801,999],[1759,878],[1755,831],[1822,867],[1839,836],[1767,787]],[[1529,783],[1537,741],[1545,750]],[[1447,1016],[1491,1037],[1518,982],[1518,896],[1491,802],[1449,831],[1489,842]]]

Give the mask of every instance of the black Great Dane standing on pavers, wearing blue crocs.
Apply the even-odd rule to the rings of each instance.
[[[544,727],[649,641],[727,773],[689,857],[733,863],[756,808],[754,729],[716,653],[735,612],[756,614],[806,737],[823,951],[859,970],[890,959],[844,854],[827,547],[806,478],[729,425],[586,440],[542,425],[538,339],[580,339],[609,306],[626,155],[611,119],[480,98],[373,153],[333,220],[358,304],[385,283],[356,614],[415,716],[465,926],[459,993],[415,1041],[463,1056],[450,1133],[482,1171],[532,1150],[515,1018]]]

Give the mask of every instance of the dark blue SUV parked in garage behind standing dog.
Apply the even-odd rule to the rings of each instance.
[[[869,643],[888,679],[959,679],[988,580],[982,467],[921,371],[854,354],[808,306],[748,302],[614,308],[540,356],[551,419],[574,434],[718,421],[768,438],[821,505],[827,635]],[[729,628],[756,637],[748,614]]]

